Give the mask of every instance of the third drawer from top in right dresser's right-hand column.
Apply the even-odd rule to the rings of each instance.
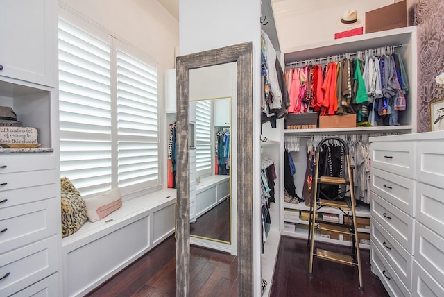
[[[416,222],[415,260],[444,287],[444,238]]]

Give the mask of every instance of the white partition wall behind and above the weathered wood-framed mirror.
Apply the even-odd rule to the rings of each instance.
[[[180,0],[180,55],[253,42],[254,287],[260,289],[260,0]],[[233,137],[234,138],[234,137]],[[234,149],[233,149],[234,151]],[[240,173],[239,173],[240,174]],[[235,185],[233,176],[233,185]],[[236,189],[232,189],[235,191]],[[234,212],[235,213],[235,212]],[[257,222],[257,223],[256,223]],[[232,233],[237,235],[237,232]],[[236,238],[232,241],[237,241]],[[237,247],[236,247],[237,248]],[[260,292],[257,292],[260,296]]]

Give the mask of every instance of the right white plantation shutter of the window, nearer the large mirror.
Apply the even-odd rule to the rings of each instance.
[[[117,49],[119,187],[159,178],[157,69]]]

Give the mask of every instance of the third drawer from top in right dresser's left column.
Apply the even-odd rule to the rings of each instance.
[[[372,192],[370,214],[409,253],[413,254],[413,218]]]

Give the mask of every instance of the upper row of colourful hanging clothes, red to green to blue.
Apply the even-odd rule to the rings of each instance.
[[[297,62],[285,70],[287,114],[355,113],[359,126],[398,126],[398,113],[409,108],[409,81],[400,54],[382,48],[358,52],[353,59],[343,56],[329,57],[325,65]]]

